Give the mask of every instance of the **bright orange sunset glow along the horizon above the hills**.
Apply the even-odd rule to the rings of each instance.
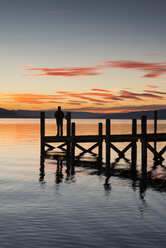
[[[0,103],[11,110],[55,110],[57,105],[61,105],[64,110],[106,113],[165,108],[165,96],[165,92],[154,90],[153,86],[148,85],[141,93],[132,89],[114,92],[96,88],[79,93],[58,91],[54,94],[0,94]]]

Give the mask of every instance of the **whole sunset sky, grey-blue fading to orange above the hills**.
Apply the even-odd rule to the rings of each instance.
[[[166,109],[165,0],[0,0],[0,108]]]

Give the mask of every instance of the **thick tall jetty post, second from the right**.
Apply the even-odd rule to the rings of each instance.
[[[146,177],[147,172],[147,145],[146,145],[146,134],[147,134],[147,118],[142,116],[141,119],[141,129],[142,129],[142,173],[143,177]]]

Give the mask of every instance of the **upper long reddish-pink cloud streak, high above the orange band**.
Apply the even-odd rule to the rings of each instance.
[[[118,60],[105,61],[100,66],[89,67],[61,67],[61,68],[23,68],[26,71],[34,71],[35,74],[29,76],[52,76],[52,77],[82,77],[98,76],[103,74],[103,69],[127,69],[142,71],[145,78],[159,78],[166,74],[166,63],[147,63],[142,61]],[[36,72],[40,72],[36,74]],[[28,76],[28,75],[25,75]],[[93,89],[101,91],[101,89]],[[106,90],[105,90],[106,91]]]

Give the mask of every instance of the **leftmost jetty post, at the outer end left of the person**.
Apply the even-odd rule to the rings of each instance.
[[[45,112],[40,112],[40,164],[44,164],[45,156]]]

